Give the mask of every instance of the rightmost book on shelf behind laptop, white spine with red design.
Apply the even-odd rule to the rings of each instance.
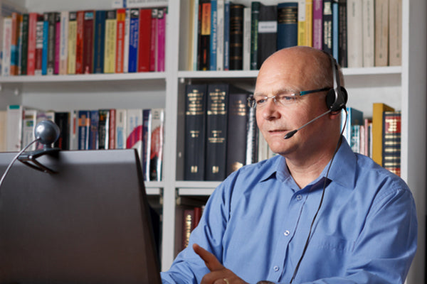
[[[149,153],[149,180],[162,180],[164,146],[164,109],[152,109],[151,151]]]

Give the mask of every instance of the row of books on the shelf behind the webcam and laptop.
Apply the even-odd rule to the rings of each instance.
[[[9,105],[0,111],[0,151],[20,151],[35,139],[39,121],[55,121],[62,150],[136,148],[144,180],[162,178],[164,109],[93,109],[41,111]],[[33,144],[28,151],[41,145]]]

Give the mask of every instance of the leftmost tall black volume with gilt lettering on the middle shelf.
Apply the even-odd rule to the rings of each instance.
[[[204,180],[206,84],[186,85],[184,180]]]

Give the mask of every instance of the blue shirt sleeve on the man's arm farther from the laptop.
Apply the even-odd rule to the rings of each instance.
[[[352,255],[343,263],[346,275],[309,283],[404,283],[416,243],[416,207],[411,192],[386,192],[376,197]]]

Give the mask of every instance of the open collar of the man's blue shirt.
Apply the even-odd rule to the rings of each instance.
[[[331,163],[331,162],[330,162]],[[330,163],[322,170],[320,177],[326,177],[327,168]],[[332,166],[330,172],[327,176],[329,180],[337,182],[343,187],[349,189],[354,188],[354,177],[356,175],[356,165],[357,165],[357,155],[355,155],[350,148],[347,140],[342,137],[341,146],[332,160]],[[265,161],[265,171],[263,177],[260,181],[268,180],[269,178],[280,178],[283,177],[283,180],[292,178],[290,176],[288,166],[286,165],[286,160],[281,155],[275,155],[273,158],[270,158]],[[313,182],[317,182],[319,178]]]

